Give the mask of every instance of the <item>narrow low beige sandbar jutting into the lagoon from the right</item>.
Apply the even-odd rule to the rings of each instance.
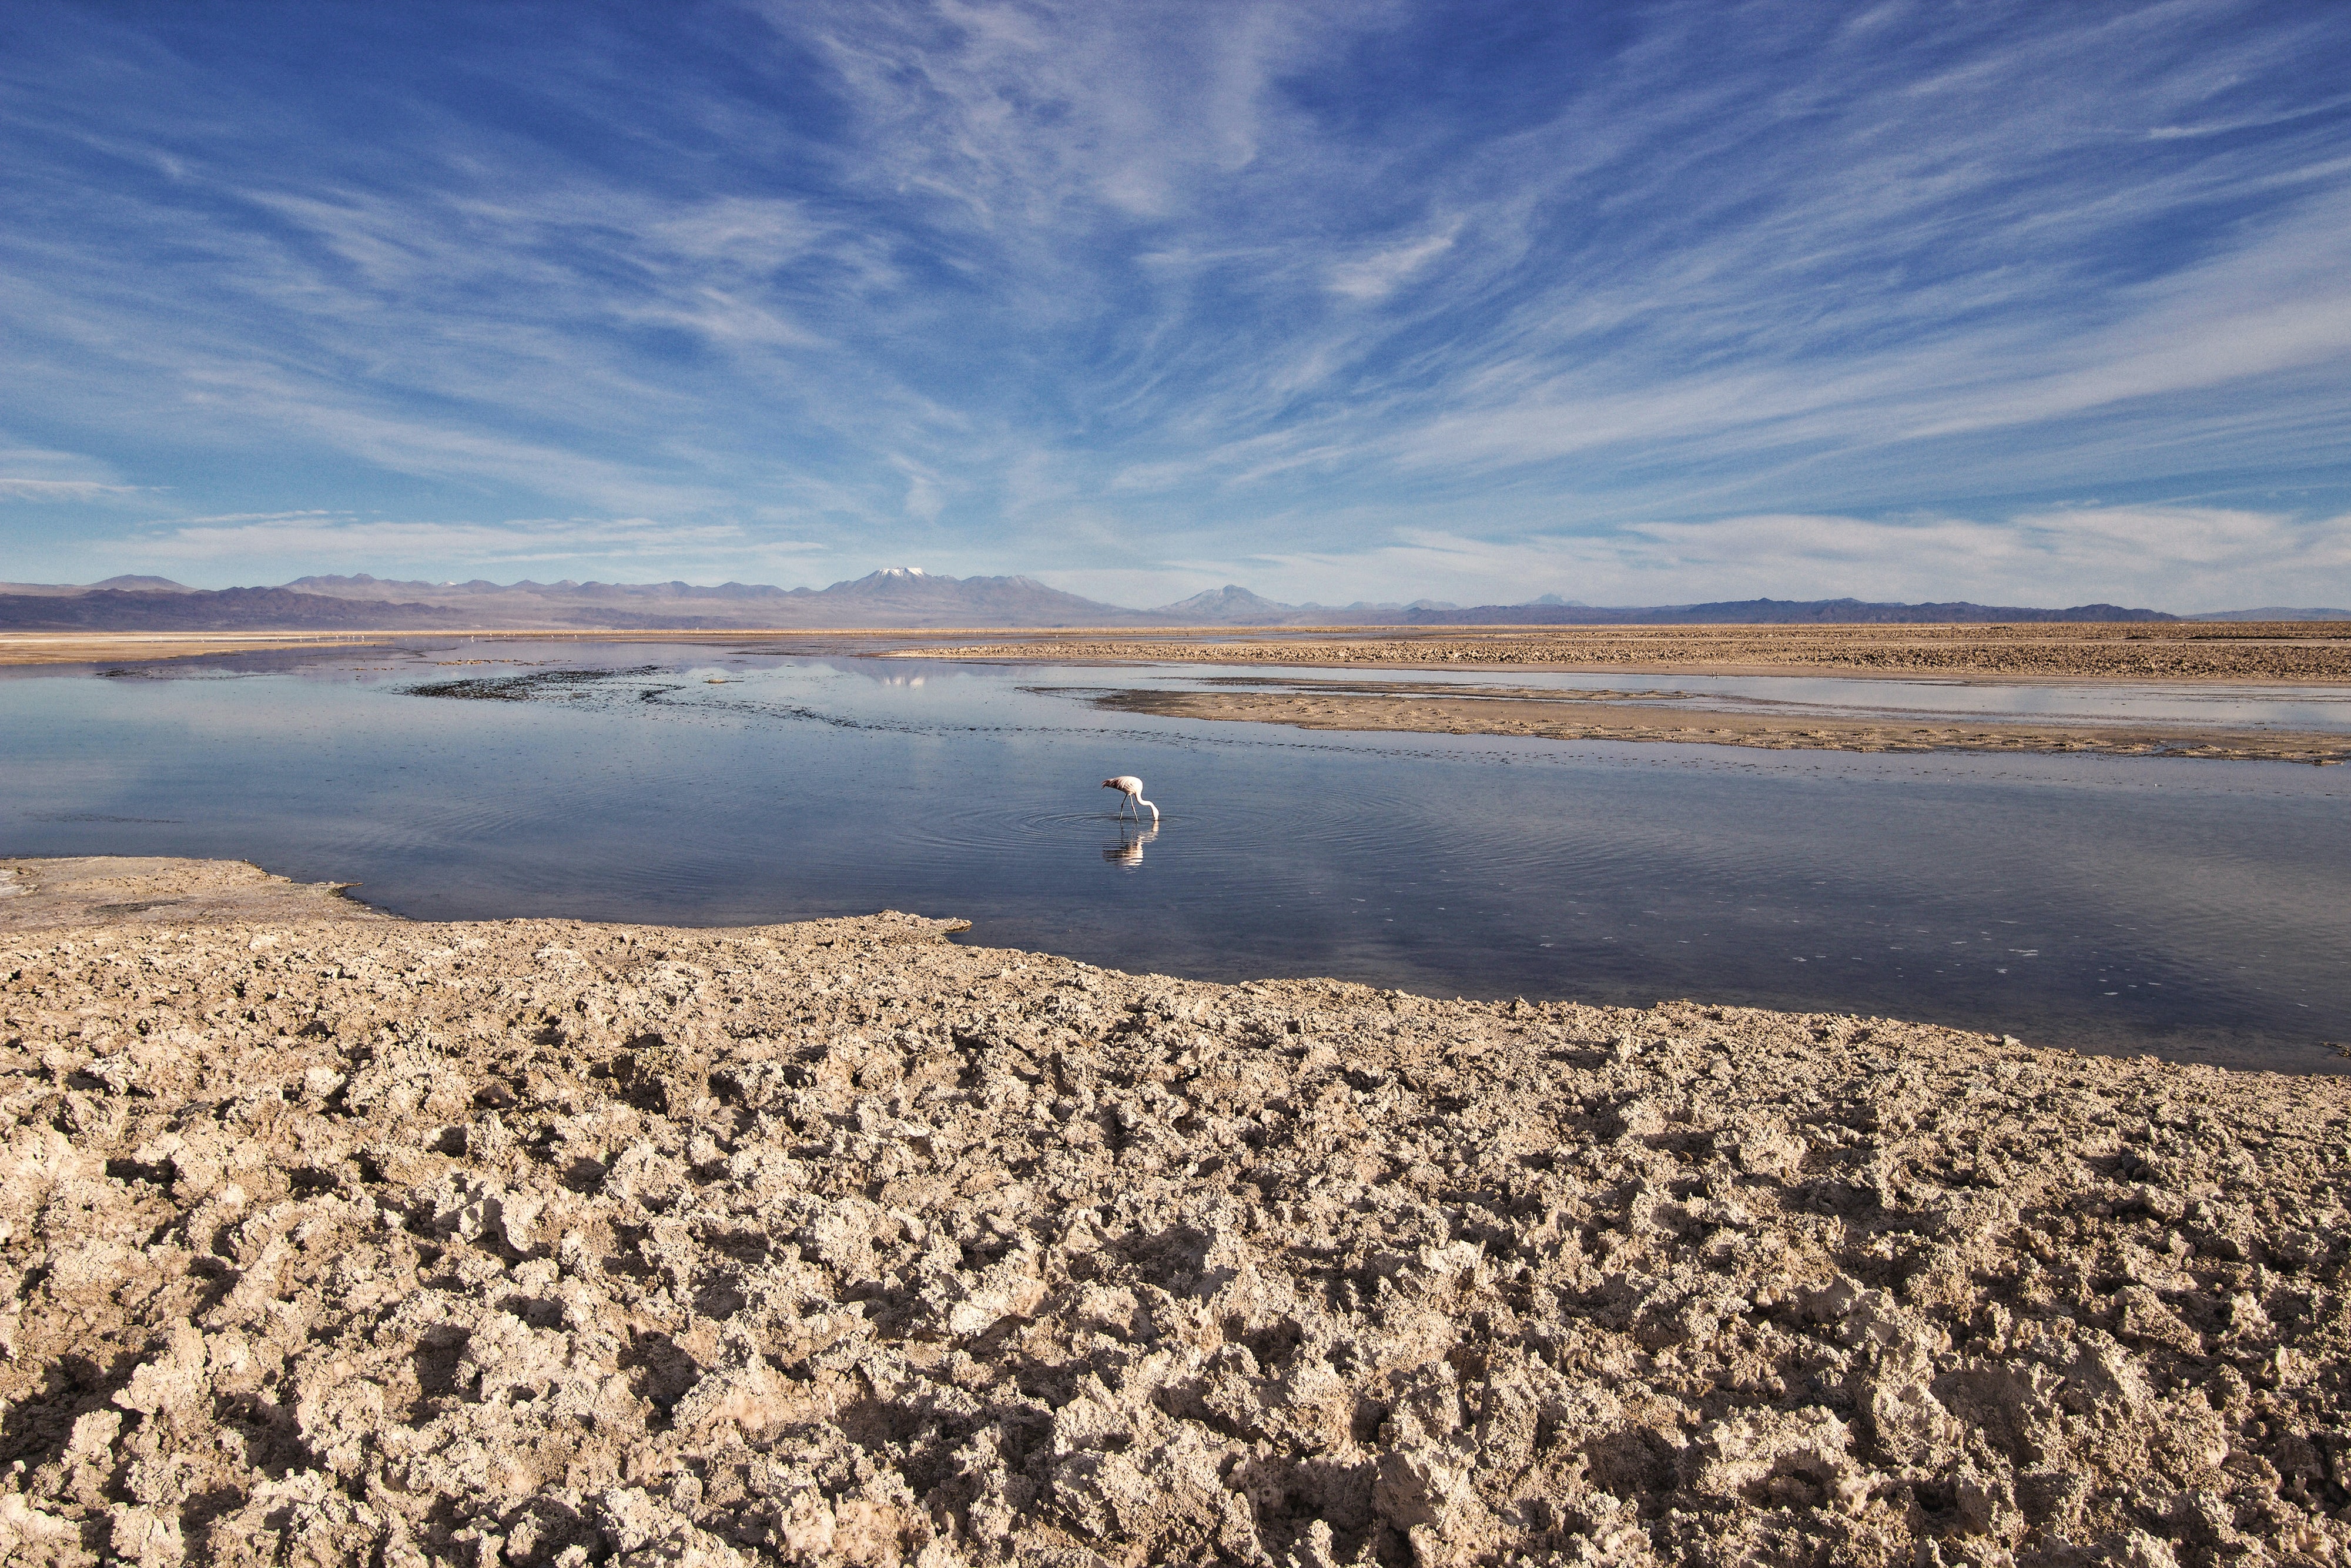
[[[1347,691],[1105,691],[1096,708],[1180,719],[1239,719],[1298,729],[1392,729],[1439,736],[1547,741],[1681,741],[1838,752],[2078,752],[2090,757],[2208,757],[2309,762],[2351,757],[2351,736],[2283,729],[2144,724],[1987,724],[1980,719],[1831,719],[1719,712],[1608,701],[1620,693]]]

